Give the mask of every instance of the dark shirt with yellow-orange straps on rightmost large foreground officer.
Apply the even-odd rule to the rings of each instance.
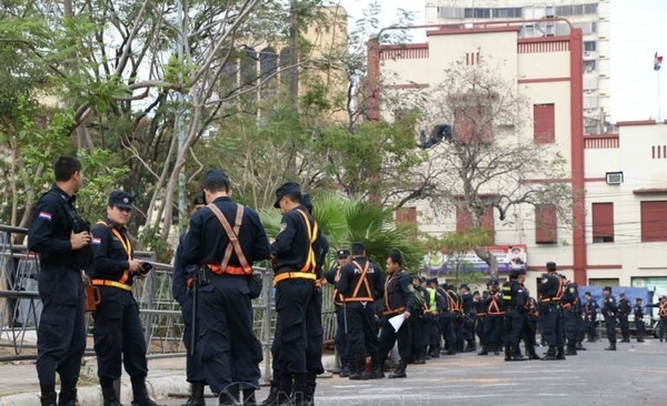
[[[271,244],[271,254],[275,255],[273,268],[276,270],[276,274],[300,271],[308,261],[310,240],[308,227],[299,211],[306,214],[311,225],[315,224],[312,216],[302,206],[290,210],[282,215],[280,232],[276,235],[276,241]],[[318,262],[321,261],[323,251],[320,235],[318,233],[318,237],[312,244],[312,250],[315,250]],[[321,267],[321,264],[318,264],[317,267]]]

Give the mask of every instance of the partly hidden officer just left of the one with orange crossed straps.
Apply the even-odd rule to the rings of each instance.
[[[340,270],[342,266],[350,262],[350,251],[349,250],[338,250],[336,252],[336,266],[325,273],[325,278],[327,283],[331,286],[336,286],[338,281],[340,280]],[[336,354],[340,359],[340,371],[338,375],[341,378],[347,378],[350,376],[350,367],[352,364],[352,359],[349,358],[348,355],[348,343],[347,343],[347,328],[345,321],[345,302],[344,297],[338,292],[336,287],[334,287],[334,306],[336,311]]]

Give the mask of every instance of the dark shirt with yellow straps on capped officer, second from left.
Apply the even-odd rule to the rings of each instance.
[[[132,247],[130,240],[127,236],[125,226],[116,226],[108,217],[104,217],[104,224],[96,224],[90,230],[92,234],[92,263],[88,267],[88,275],[91,278],[100,278],[108,281],[120,281],[123,275],[127,280],[126,285],[131,285],[133,276],[126,271],[129,270],[132,256]],[[120,241],[111,230],[116,229],[120,236]],[[129,253],[128,250],[129,248]]]

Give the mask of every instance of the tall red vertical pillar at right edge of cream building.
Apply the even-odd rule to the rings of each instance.
[[[570,136],[573,173],[573,270],[575,282],[585,285],[586,276],[586,182],[584,173],[584,34],[573,29],[570,41]]]

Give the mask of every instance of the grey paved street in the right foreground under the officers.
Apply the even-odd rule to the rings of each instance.
[[[502,356],[466,353],[410,365],[407,379],[318,379],[317,406],[459,405],[664,405],[667,344],[585,343],[588,351],[566,361],[506,363]],[[538,349],[538,354],[544,349]],[[268,388],[258,392],[263,400]],[[181,405],[183,399],[161,402]],[[207,405],[216,405],[210,398]]]

